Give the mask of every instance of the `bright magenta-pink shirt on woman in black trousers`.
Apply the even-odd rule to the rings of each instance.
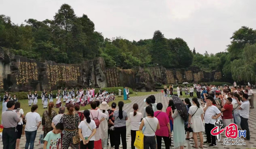
[[[162,111],[156,111],[154,113],[154,117],[156,117],[158,119],[159,125],[160,125],[160,129],[156,130],[156,135],[169,137],[169,130],[168,130],[167,124],[170,122],[170,120],[169,120],[169,117],[167,116],[167,114]]]

